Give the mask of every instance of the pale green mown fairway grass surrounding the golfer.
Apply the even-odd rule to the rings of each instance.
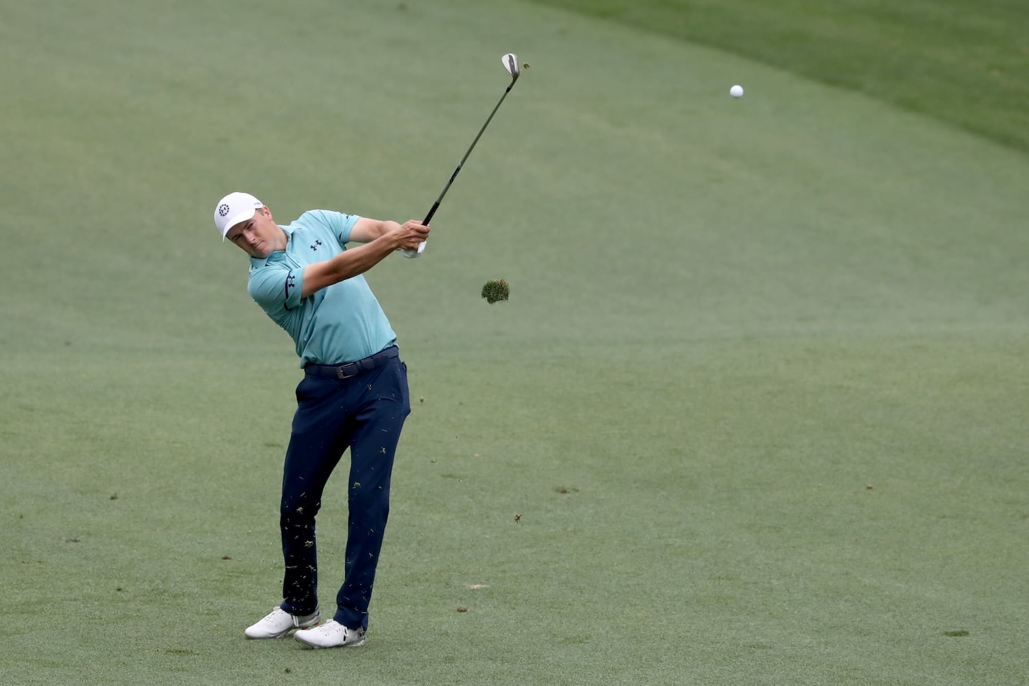
[[[924,116],[826,84],[818,12],[688,25],[784,64],[669,6],[0,2],[5,683],[1027,683],[1018,119],[951,125],[967,40]],[[507,50],[428,251],[368,275],[414,396],[368,644],[247,642],[299,372],[213,204],[423,216]]]

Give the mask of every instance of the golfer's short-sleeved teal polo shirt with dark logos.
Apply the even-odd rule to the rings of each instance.
[[[300,297],[307,266],[346,250],[358,219],[327,210],[305,212],[281,227],[288,239],[285,250],[250,258],[247,292],[292,336],[301,367],[353,362],[396,341],[362,275]]]

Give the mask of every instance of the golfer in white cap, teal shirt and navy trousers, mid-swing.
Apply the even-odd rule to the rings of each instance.
[[[283,601],[246,628],[251,639],[294,636],[313,648],[359,646],[389,513],[393,455],[411,413],[396,334],[363,273],[396,250],[417,257],[429,227],[312,210],[288,226],[249,193],[215,206],[214,224],[250,255],[247,290],[296,344],[304,378],[282,477]],[[363,244],[348,247],[348,244]],[[349,531],[343,585],[321,622],[315,515],[350,448]]]

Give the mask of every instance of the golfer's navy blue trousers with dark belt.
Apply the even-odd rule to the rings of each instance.
[[[333,619],[351,628],[367,628],[389,515],[393,456],[411,413],[407,368],[393,347],[356,364],[309,365],[306,372],[296,387],[296,414],[282,476],[279,523],[286,569],[281,607],[297,615],[318,607],[315,516],[325,483],[349,447],[345,577]]]

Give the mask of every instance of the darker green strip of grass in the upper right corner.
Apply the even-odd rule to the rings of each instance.
[[[1029,152],[1025,3],[536,1],[734,52]],[[760,94],[754,76],[746,68],[736,74]]]

